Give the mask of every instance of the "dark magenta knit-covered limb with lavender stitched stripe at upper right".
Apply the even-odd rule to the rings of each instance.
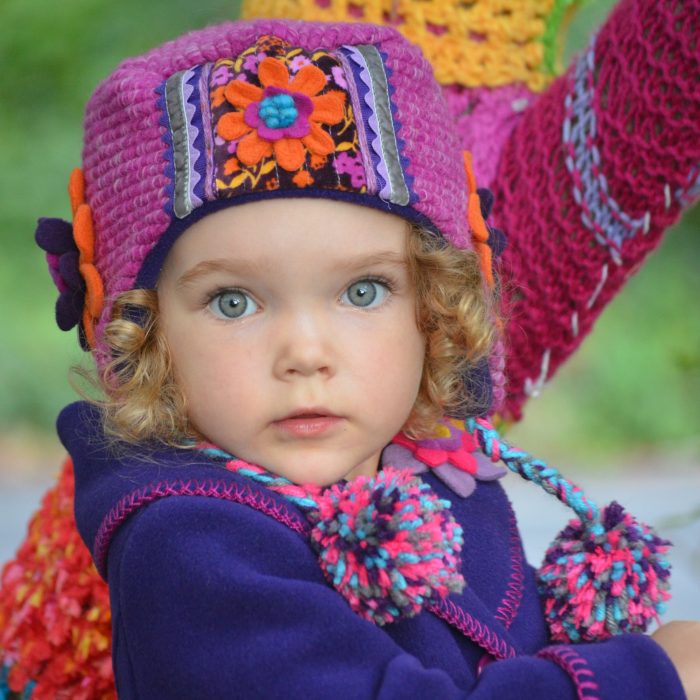
[[[508,417],[698,195],[699,25],[700,0],[623,0],[505,144]]]

